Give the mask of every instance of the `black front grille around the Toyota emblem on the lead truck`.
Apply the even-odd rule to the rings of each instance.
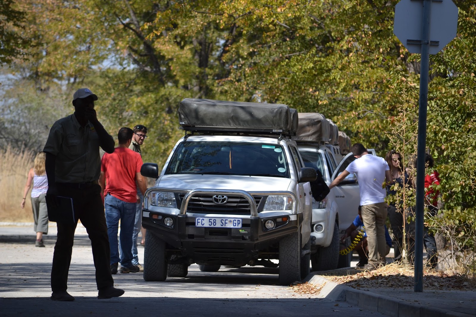
[[[180,204],[185,194],[179,194]],[[187,212],[198,214],[233,214],[233,215],[249,215],[250,208],[248,200],[242,196],[227,195],[228,201],[225,204],[218,205],[213,202],[214,195],[195,195],[188,201]],[[255,196],[256,207],[258,208],[261,201],[260,196]]]

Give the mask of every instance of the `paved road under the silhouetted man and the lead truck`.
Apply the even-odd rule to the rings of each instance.
[[[34,247],[29,227],[0,227],[0,316],[382,316],[346,302],[294,293],[278,284],[278,269],[226,268],[217,273],[189,267],[186,278],[145,282],[142,273],[117,274],[122,297],[99,300],[89,239],[77,230],[69,269],[74,302],[50,297],[50,269],[56,228],[44,237],[46,248]],[[139,257],[143,257],[139,247]]]

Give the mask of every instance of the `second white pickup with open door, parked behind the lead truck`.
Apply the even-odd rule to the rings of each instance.
[[[297,135],[293,137],[307,167],[320,172],[327,185],[355,158],[344,158],[338,146],[338,131],[320,113],[298,113]],[[337,127],[337,126],[336,126]],[[343,134],[342,134],[343,135]],[[346,141],[350,145],[349,141]],[[348,152],[348,148],[345,149]],[[373,149],[369,153],[375,155]],[[357,216],[360,193],[357,177],[350,174],[332,188],[326,198],[312,201],[311,263],[314,271],[349,267],[352,253],[339,255],[340,236]],[[347,240],[347,244],[349,240]]]

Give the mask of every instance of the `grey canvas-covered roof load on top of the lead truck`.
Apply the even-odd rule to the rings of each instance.
[[[230,131],[294,135],[297,110],[284,104],[183,99],[178,120],[187,131]]]

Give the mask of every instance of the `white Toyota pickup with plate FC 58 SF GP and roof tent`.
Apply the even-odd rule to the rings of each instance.
[[[185,136],[146,191],[144,279],[185,277],[188,266],[279,266],[279,283],[309,273],[311,194],[316,170],[304,166],[297,111],[286,105],[184,99]],[[271,261],[277,259],[276,261]]]

